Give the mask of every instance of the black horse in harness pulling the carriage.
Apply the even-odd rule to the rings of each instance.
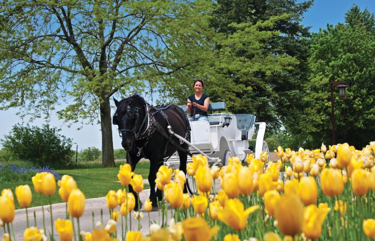
[[[114,99],[114,98],[113,98]],[[121,145],[126,150],[126,162],[134,171],[136,164],[144,157],[150,160],[150,200],[153,207],[157,207],[157,199],[161,200],[159,189],[155,192],[156,172],[165,159],[168,159],[175,151],[180,158],[180,170],[186,174],[186,160],[188,146],[181,143],[175,136],[171,136],[167,126],[180,136],[190,141],[190,125],[185,112],[176,105],[150,106],[138,94],[117,101],[114,99],[116,111],[113,116],[113,124],[118,125],[118,132],[122,137]],[[137,199],[137,194],[129,185]],[[186,185],[184,187],[186,193]],[[142,203],[141,203],[142,207]],[[139,207],[139,209],[141,208]],[[138,210],[136,202],[135,210]]]

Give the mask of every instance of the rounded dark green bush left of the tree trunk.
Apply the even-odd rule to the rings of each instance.
[[[28,160],[41,166],[54,163],[67,165],[71,158],[72,140],[59,134],[60,131],[48,124],[40,128],[18,123],[0,143],[14,159]]]

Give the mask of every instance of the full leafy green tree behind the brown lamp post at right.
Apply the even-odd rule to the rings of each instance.
[[[309,101],[301,135],[307,147],[332,143],[330,81],[345,81],[345,99],[334,89],[336,137],[360,149],[375,139],[374,14],[358,6],[345,14],[346,24],[328,25],[312,34]]]

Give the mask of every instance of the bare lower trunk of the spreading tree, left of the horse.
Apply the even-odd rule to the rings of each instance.
[[[102,127],[102,166],[114,167],[113,157],[113,139],[112,139],[112,121],[111,105],[107,98],[103,98],[104,103],[100,105],[100,120]]]

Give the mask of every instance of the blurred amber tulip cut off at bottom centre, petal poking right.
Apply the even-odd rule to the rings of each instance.
[[[210,229],[207,222],[200,217],[192,217],[182,221],[185,241],[209,241],[219,230],[214,226]]]

